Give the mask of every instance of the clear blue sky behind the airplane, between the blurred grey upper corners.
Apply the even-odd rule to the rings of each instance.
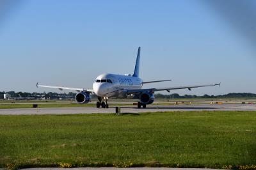
[[[132,73],[141,46],[141,78],[173,80],[146,88],[221,82],[221,88],[171,93],[256,93],[252,43],[202,1],[12,6],[0,20],[0,91],[55,91],[36,89],[36,82],[92,88],[100,73]]]

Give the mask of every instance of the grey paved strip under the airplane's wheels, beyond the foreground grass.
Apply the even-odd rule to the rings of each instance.
[[[172,111],[256,111],[255,104],[179,104],[179,105],[147,105],[146,109],[136,106],[121,106],[122,113],[139,112],[172,112]],[[58,107],[38,109],[0,109],[0,115],[29,114],[101,114],[115,113],[115,104],[109,109],[96,107]]]

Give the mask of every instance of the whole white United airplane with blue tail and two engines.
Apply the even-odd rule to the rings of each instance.
[[[56,89],[69,89],[77,91],[77,95],[75,100],[78,104],[88,104],[91,101],[90,94],[95,94],[98,97],[98,102],[96,103],[96,107],[100,108],[109,108],[108,98],[134,98],[138,99],[139,102],[137,104],[138,108],[141,106],[145,109],[148,104],[152,104],[154,102],[154,93],[156,91],[168,91],[173,89],[189,89],[192,88],[200,88],[207,86],[220,86],[218,84],[206,84],[199,86],[179,86],[179,87],[170,87],[170,88],[142,88],[144,84],[150,84],[155,82],[165,82],[171,80],[163,80],[163,81],[143,81],[139,77],[140,73],[140,47],[138,48],[138,54],[136,59],[136,65],[134,68],[133,75],[125,74],[113,74],[113,73],[103,73],[99,75],[95,82],[93,82],[93,89],[84,89],[84,88],[68,88],[64,86],[47,86],[36,83],[36,87],[42,88],[56,88]]]

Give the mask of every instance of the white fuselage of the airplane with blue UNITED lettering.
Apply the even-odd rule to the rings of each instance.
[[[131,75],[102,74],[93,83],[93,91],[98,97],[126,98],[127,89],[141,89],[143,81]]]

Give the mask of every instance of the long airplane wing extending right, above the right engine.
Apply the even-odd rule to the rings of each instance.
[[[164,90],[170,92],[170,90],[172,90],[172,89],[189,89],[189,90],[191,90],[192,88],[201,88],[201,87],[209,87],[209,86],[220,86],[220,83],[198,85],[198,86],[178,86],[178,87],[170,87],[170,88],[128,89],[127,94],[130,95],[130,94],[134,94],[134,93],[143,93],[145,91],[155,92],[155,91],[164,91]]]

